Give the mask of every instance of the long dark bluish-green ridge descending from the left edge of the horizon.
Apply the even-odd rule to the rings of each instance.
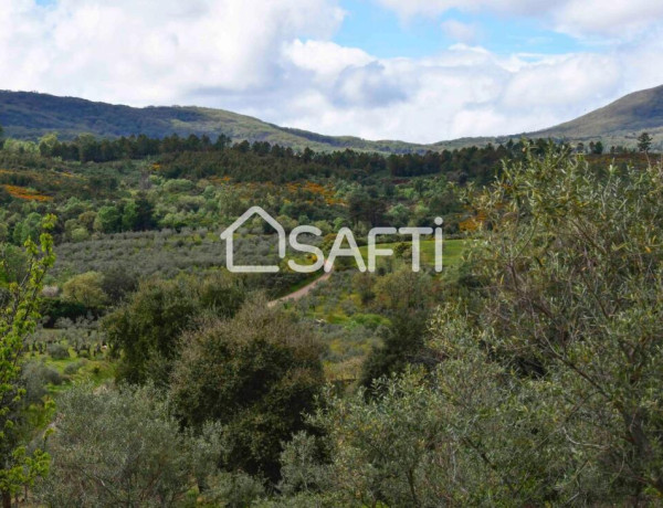
[[[233,140],[269,141],[313,150],[354,148],[382,152],[422,151],[427,147],[403,141],[366,141],[356,137],[334,137],[306,130],[278,127],[250,116],[222,109],[193,106],[145,107],[94,103],[75,97],[56,97],[32,92],[0,91],[0,125],[6,135],[19,139],[39,139],[56,131],[62,139],[82,133],[99,137],[146,134],[164,137],[171,134],[224,134]]]

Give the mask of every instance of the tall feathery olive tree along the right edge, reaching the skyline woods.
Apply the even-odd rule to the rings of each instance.
[[[476,201],[487,220],[475,319],[494,331],[493,354],[558,390],[570,476],[593,472],[614,498],[660,496],[660,170],[590,170],[550,151],[507,168]]]

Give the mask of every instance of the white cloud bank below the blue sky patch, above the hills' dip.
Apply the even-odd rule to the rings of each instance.
[[[371,86],[387,87],[393,100],[373,102],[357,93],[356,100],[339,102],[318,87],[292,100],[283,120],[335,135],[425,142],[538,130],[663,83],[659,66],[638,76],[624,72],[632,67],[629,61],[655,59],[663,50],[656,41],[653,36],[645,51],[506,57],[456,44],[434,57],[380,60]],[[376,66],[355,66],[350,74]]]

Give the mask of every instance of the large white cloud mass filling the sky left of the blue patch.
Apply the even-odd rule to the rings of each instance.
[[[7,2],[6,2],[7,3]],[[271,86],[283,44],[328,39],[344,13],[329,0],[9,0],[0,72],[11,88],[149,104],[217,87]]]

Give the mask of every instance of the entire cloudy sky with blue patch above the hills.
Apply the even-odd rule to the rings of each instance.
[[[3,0],[0,89],[434,142],[663,84],[652,0]]]

